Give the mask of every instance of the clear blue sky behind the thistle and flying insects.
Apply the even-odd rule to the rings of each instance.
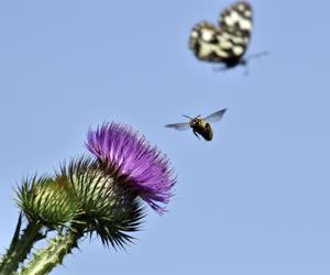
[[[169,212],[127,252],[97,239],[53,274],[330,274],[330,2],[251,1],[250,75],[215,73],[191,26],[229,0],[0,2],[0,248],[13,188],[86,153],[88,128],[132,124],[178,175]],[[228,108],[215,140],[166,123]]]

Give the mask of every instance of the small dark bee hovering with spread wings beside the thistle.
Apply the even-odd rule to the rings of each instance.
[[[193,129],[193,133],[198,138],[201,135],[206,141],[211,141],[213,138],[213,131],[211,128],[210,122],[217,122],[221,120],[227,109],[222,109],[220,111],[213,112],[210,116],[206,118],[201,118],[201,116],[197,116],[196,118],[190,118],[186,114],[183,114],[185,118],[188,118],[189,122],[184,123],[174,123],[174,124],[167,124],[165,127],[173,128],[178,131],[185,131],[189,128]]]

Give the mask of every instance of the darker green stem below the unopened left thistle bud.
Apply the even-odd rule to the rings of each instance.
[[[33,244],[45,238],[45,235],[40,232],[42,226],[37,221],[29,222],[26,228],[20,234],[21,222],[22,215],[19,217],[11,244],[6,255],[1,258],[0,275],[10,275],[15,273],[20,263],[23,263],[30,254]]]

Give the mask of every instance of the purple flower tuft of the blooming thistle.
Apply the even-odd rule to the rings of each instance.
[[[119,123],[103,123],[89,130],[87,148],[122,186],[136,191],[154,210],[162,213],[175,185],[166,155],[152,147],[143,135]]]

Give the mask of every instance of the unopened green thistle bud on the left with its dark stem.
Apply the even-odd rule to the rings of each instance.
[[[0,264],[1,275],[15,272],[34,243],[46,238],[45,231],[68,227],[76,210],[68,188],[46,176],[24,179],[16,190],[16,205],[22,212],[10,249]],[[26,227],[21,231],[22,213]]]

